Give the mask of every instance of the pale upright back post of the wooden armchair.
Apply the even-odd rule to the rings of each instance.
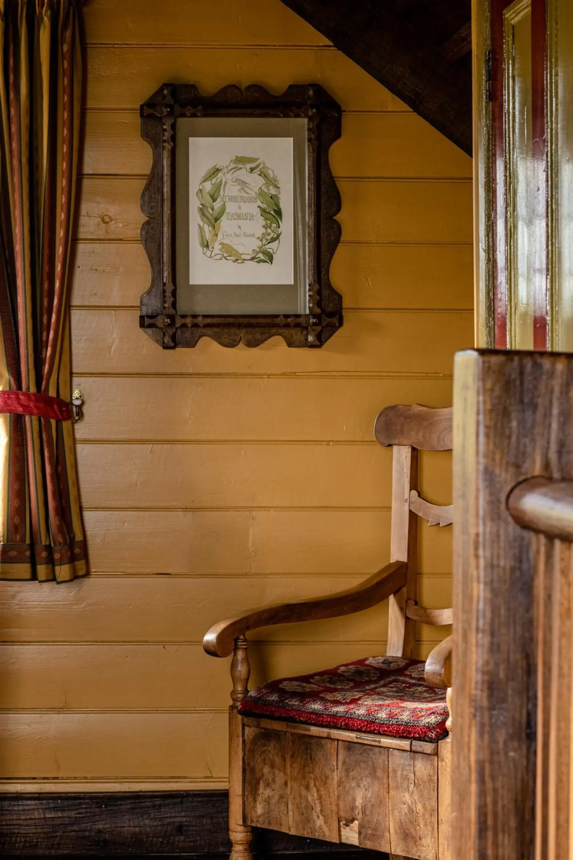
[[[394,445],[392,456],[390,561],[407,562],[408,574],[405,587],[389,600],[386,653],[412,657],[416,647],[416,622],[405,616],[405,604],[407,600],[416,601],[418,517],[410,510],[410,494],[412,489],[418,489],[418,450],[410,445]]]

